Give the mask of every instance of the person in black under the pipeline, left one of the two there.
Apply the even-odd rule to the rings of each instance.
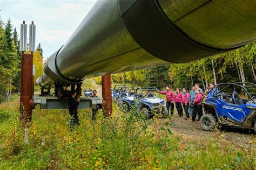
[[[76,91],[71,90],[71,97],[69,98],[69,114],[71,115],[70,128],[73,128],[75,125],[79,125],[77,108],[80,102],[80,98],[76,95]]]

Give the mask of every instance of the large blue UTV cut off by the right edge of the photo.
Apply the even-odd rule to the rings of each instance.
[[[203,98],[204,115],[200,120],[204,130],[232,126],[256,131],[256,84],[221,83],[207,95]]]

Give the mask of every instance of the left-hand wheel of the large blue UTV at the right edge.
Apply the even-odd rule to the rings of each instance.
[[[213,131],[216,126],[216,119],[211,114],[204,114],[201,117],[200,123],[205,131]]]

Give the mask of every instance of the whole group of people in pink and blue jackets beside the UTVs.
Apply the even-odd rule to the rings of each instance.
[[[201,116],[203,116],[203,107],[202,107],[202,98],[204,97],[204,90],[199,87],[200,85],[196,83],[192,87],[191,91],[188,91],[186,88],[183,88],[182,91],[180,88],[176,88],[176,91],[173,92],[169,86],[166,86],[165,91],[158,91],[158,93],[166,95],[166,108],[170,110],[170,114],[173,115],[174,103],[180,117],[183,116],[183,110],[185,111],[185,119],[190,119],[191,122],[199,122]],[[214,89],[215,84],[212,82],[210,86],[205,89],[206,94],[210,91],[207,96],[213,97],[217,90]],[[196,119],[198,117],[198,119]]]

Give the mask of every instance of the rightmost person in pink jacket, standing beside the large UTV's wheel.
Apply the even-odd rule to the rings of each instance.
[[[200,89],[196,89],[196,97],[194,97],[194,109],[192,112],[192,122],[196,121],[196,117],[198,117],[197,122],[200,121],[201,116],[203,116],[203,107],[202,107],[202,98],[204,94],[200,92]]]

